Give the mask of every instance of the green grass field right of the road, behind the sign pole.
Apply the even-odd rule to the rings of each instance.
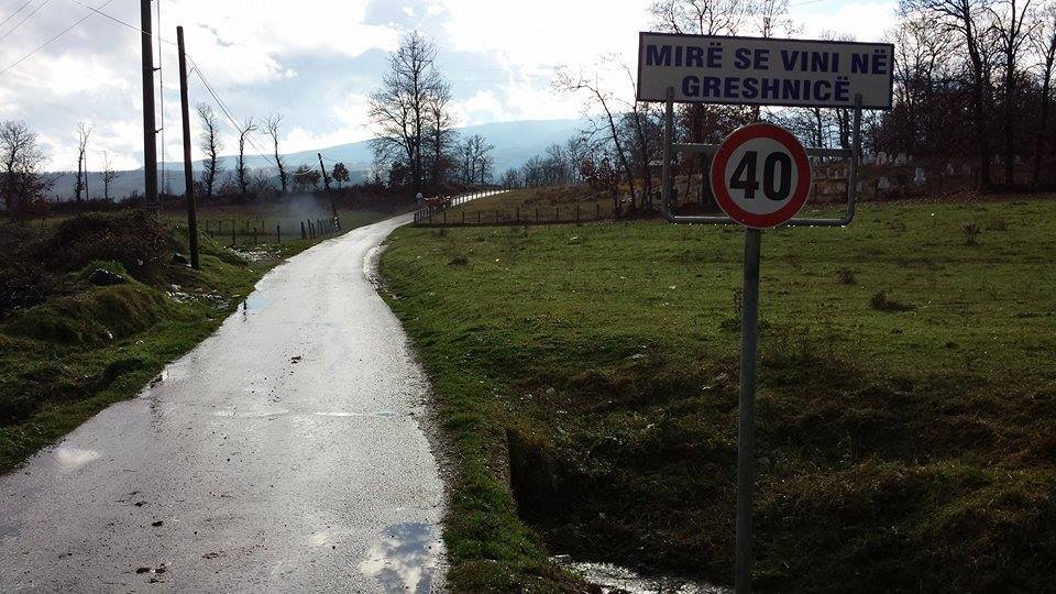
[[[570,587],[549,553],[732,581],[743,237],[395,232],[458,587]],[[1056,201],[866,205],[762,244],[756,585],[1052,584]]]

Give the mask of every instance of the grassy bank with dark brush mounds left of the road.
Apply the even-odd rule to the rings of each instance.
[[[349,230],[382,215],[343,217]],[[0,309],[0,472],[133,396],[212,333],[271,267],[324,239],[241,238],[235,252],[204,235],[201,270],[191,271],[169,261],[187,254],[185,222],[152,221],[124,211],[80,223],[0,224],[9,256],[0,288],[46,294],[32,307]],[[94,286],[87,277],[96,268],[124,282]]]

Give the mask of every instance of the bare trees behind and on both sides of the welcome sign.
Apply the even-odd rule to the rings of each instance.
[[[652,29],[659,31],[795,36],[800,28],[788,8],[788,0],[658,0],[650,12]],[[867,151],[968,161],[985,190],[1056,184],[1050,116],[1056,2],[902,0],[889,37],[895,45],[894,108],[865,114]],[[632,208],[651,208],[659,190],[662,106],[635,101],[629,68],[614,73],[613,59],[602,63],[608,66],[562,70],[554,82],[598,114],[584,131],[585,151],[573,170],[601,187],[612,186],[615,176],[629,190]],[[627,85],[614,91],[613,80],[619,78]],[[674,133],[678,142],[717,143],[730,130],[760,119],[789,128],[807,145],[847,148],[851,143],[848,109],[680,105]],[[560,168],[552,163],[534,160],[520,173],[507,172],[504,183],[515,174],[522,184],[553,183]],[[992,170],[994,163],[1000,170]],[[680,163],[678,173],[701,178],[707,166],[700,155]],[[708,201],[706,184],[691,187],[688,182],[683,196],[691,190]]]

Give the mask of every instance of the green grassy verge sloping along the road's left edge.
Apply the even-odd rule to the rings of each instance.
[[[374,218],[356,216],[345,230]],[[163,235],[187,254],[182,228],[169,221]],[[0,317],[0,472],[136,394],[167,363],[211,334],[264,273],[314,243],[240,245],[252,255],[249,261],[202,237],[200,271],[165,265],[143,280],[112,261],[56,271],[64,294]],[[121,274],[125,284],[91,286],[85,277],[97,267]]]

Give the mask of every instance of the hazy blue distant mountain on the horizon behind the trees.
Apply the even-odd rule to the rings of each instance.
[[[471,125],[459,129],[459,134],[472,136],[480,134],[487,139],[495,148],[492,151],[492,157],[495,160],[495,177],[497,178],[510,167],[520,167],[529,158],[543,153],[547,146],[553,143],[563,144],[566,140],[575,135],[583,128],[582,120],[522,120],[516,122],[494,122],[480,125]],[[261,144],[261,143],[257,143]],[[263,145],[262,145],[263,146]],[[353,142],[349,144],[339,144],[327,146],[320,150],[301,151],[284,155],[290,170],[300,165],[318,166],[319,160],[316,153],[322,153],[328,160],[344,163],[351,172],[353,182],[362,180],[366,177],[374,162],[374,153],[371,151],[370,141]],[[235,156],[226,155],[220,157],[224,169],[230,172],[234,168]],[[251,168],[270,168],[272,165],[260,155],[246,155],[246,166]],[[331,166],[332,163],[327,163]],[[166,162],[164,164],[164,179],[158,180],[158,186],[163,191],[169,194],[184,193],[184,165],[182,162]],[[201,170],[201,162],[194,163],[196,177]],[[56,176],[55,186],[52,188],[52,197],[57,200],[70,200],[74,194],[74,183],[77,174],[74,172],[59,172],[53,174]],[[88,174],[88,190],[92,198],[102,197],[102,173],[90,172]],[[121,172],[110,185],[111,197],[125,197],[133,191],[143,193],[143,169]]]

